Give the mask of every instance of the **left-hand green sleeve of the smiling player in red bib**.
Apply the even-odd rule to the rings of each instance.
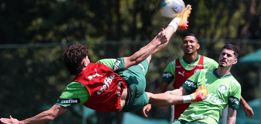
[[[175,78],[175,65],[175,60],[167,65],[162,75],[162,81],[171,83],[171,81]]]

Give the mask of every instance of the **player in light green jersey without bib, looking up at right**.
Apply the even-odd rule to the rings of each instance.
[[[217,69],[201,69],[188,78],[181,88],[169,92],[173,95],[185,95],[194,92],[202,84],[208,88],[206,99],[190,104],[189,108],[173,124],[217,124],[221,112],[227,105],[229,107],[227,123],[236,122],[241,86],[231,75],[230,69],[233,64],[237,63],[238,54],[236,46],[225,45],[219,56]]]

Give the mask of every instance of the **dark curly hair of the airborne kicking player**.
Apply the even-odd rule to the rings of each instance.
[[[63,52],[63,60],[67,72],[71,75],[79,74],[83,69],[82,60],[86,55],[89,55],[89,51],[86,45],[81,45],[78,42],[68,47]]]

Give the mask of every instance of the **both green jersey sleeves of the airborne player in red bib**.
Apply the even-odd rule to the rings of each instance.
[[[115,73],[121,72],[124,70],[124,60],[123,58],[118,59],[103,59],[99,60],[96,63],[102,63],[107,65]],[[85,104],[89,99],[90,94],[87,88],[80,82],[71,82],[69,83],[56,102],[56,105],[61,105],[66,108],[71,107],[75,104]]]

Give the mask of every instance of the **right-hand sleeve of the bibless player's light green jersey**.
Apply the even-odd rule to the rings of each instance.
[[[231,94],[228,97],[228,107],[238,109],[240,103],[241,86],[236,80],[232,81],[231,90]]]

